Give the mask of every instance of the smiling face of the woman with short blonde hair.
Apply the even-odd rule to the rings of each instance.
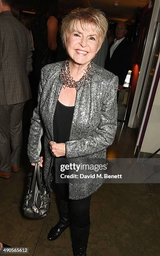
[[[99,36],[90,23],[82,29],[80,22],[77,22],[75,31],[70,33],[67,39],[67,53],[76,64],[87,66],[94,58],[98,50]]]

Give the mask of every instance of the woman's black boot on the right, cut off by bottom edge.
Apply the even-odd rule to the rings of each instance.
[[[72,248],[74,256],[87,256],[87,243],[90,234],[90,225],[87,228],[71,226]]]

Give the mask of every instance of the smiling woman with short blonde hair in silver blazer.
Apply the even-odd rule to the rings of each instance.
[[[74,159],[106,159],[106,150],[117,128],[117,77],[92,62],[107,33],[107,20],[100,10],[78,8],[62,21],[62,39],[68,59],[45,66],[41,72],[38,105],[28,142],[32,165],[42,166],[40,136],[45,134],[44,177],[48,189],[63,167]],[[58,162],[57,162],[58,161]],[[58,163],[57,165],[55,163]],[[68,165],[67,165],[68,166]],[[66,170],[67,170],[66,166]],[[71,174],[78,174],[71,168]],[[80,174],[80,171],[79,171]],[[69,176],[71,177],[71,176]],[[58,183],[59,182],[59,183]],[[86,256],[90,233],[91,195],[102,179],[58,179],[60,219],[47,239],[53,241],[71,226],[74,256]]]

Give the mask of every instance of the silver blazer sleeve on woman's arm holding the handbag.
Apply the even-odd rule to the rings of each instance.
[[[43,123],[40,115],[40,97],[42,94],[43,70],[41,70],[41,78],[38,87],[37,107],[33,111],[31,118],[30,133],[28,138],[28,157],[31,163],[40,161],[41,136],[43,134]]]

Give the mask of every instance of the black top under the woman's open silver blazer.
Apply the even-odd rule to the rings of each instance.
[[[67,107],[57,102],[53,120],[54,141],[65,143],[70,138],[70,128],[75,106]]]

